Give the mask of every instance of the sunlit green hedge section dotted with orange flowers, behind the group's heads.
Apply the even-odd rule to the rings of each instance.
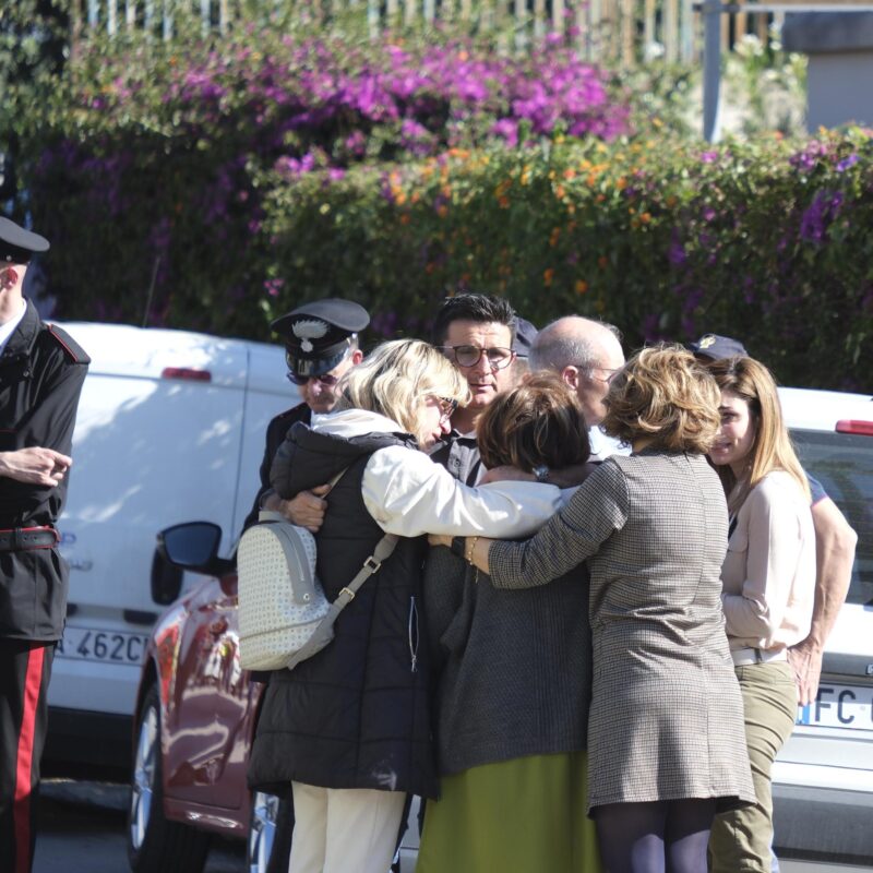
[[[267,178],[264,309],[354,294],[381,332],[414,334],[446,292],[487,289],[540,325],[598,316],[632,348],[723,333],[786,383],[871,391],[871,155],[860,131],[719,150],[566,141]]]

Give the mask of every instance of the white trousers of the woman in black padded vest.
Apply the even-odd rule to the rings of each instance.
[[[294,838],[288,873],[387,873],[406,794],[291,782]]]

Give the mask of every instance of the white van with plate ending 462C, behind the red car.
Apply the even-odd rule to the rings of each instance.
[[[158,530],[215,522],[229,551],[259,487],[270,419],[299,403],[284,350],[240,339],[67,323],[88,352],[58,528],[67,627],[49,686],[47,757],[129,764],[145,642],[179,594]]]

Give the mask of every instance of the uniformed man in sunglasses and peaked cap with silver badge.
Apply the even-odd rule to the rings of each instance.
[[[261,510],[280,512],[313,533],[324,518],[323,500],[328,486],[303,491],[294,500],[282,500],[270,486],[273,457],[292,424],[309,424],[312,414],[330,412],[337,400],[343,374],[363,360],[358,334],[370,323],[367,310],[351,300],[326,298],[304,303],[273,322],[271,327],[285,340],[288,380],[298,386],[303,402],[277,415],[266,429],[261,463],[261,487],[246,527],[258,521]]]

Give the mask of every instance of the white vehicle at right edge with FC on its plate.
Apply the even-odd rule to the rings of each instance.
[[[816,702],[773,772],[779,858],[873,865],[873,397],[782,388],[803,466],[858,534]]]

